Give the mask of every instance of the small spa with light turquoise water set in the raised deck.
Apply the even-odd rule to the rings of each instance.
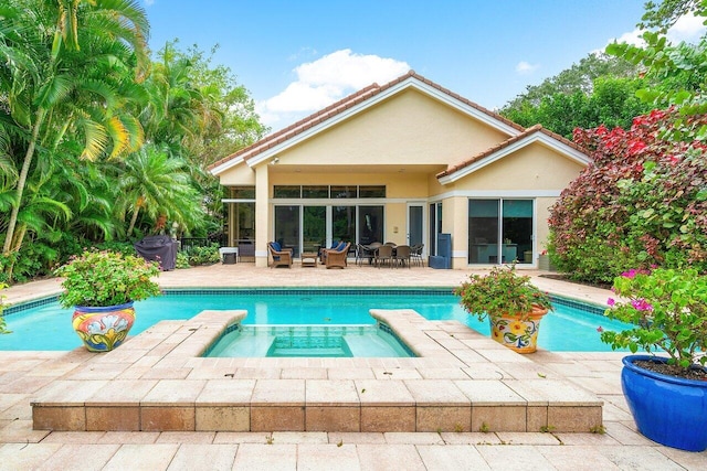
[[[217,357],[410,357],[414,356],[386,324],[234,324],[203,356]]]

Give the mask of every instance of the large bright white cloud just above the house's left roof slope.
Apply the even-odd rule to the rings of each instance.
[[[256,104],[261,120],[282,128],[372,83],[384,84],[405,74],[405,62],[377,55],[336,51],[295,67],[297,79],[272,98]]]

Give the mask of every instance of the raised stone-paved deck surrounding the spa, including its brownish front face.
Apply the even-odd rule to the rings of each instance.
[[[578,431],[603,402],[457,321],[370,311],[418,357],[200,356],[246,311],[161,321],[31,402],[34,429],[72,431]],[[86,360],[88,358],[88,360]]]

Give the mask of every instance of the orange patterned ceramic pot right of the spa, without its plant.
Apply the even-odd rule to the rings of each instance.
[[[534,353],[538,347],[540,320],[547,309],[534,308],[527,315],[489,315],[490,338],[518,353]]]

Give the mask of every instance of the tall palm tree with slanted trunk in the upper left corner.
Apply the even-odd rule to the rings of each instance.
[[[128,74],[148,69],[148,22],[136,0],[9,0],[0,26],[0,142],[11,141],[19,169],[3,254],[18,250],[36,156],[52,159],[66,141],[83,159],[118,157],[141,144],[139,122],[126,113]],[[40,179],[41,180],[41,179]]]

